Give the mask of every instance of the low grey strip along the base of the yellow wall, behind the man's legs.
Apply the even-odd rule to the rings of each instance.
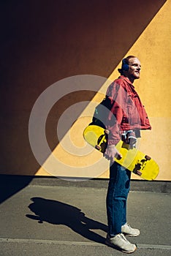
[[[61,186],[61,187],[94,187],[97,189],[108,186],[107,178],[68,178],[49,176],[15,176],[0,175],[1,187],[26,187],[26,186]],[[131,181],[131,191],[171,193],[171,181]]]

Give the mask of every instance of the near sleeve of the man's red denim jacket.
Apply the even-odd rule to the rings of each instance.
[[[127,93],[121,80],[115,80],[107,89],[112,108],[107,116],[106,127],[109,130],[108,145],[116,145],[121,140],[120,125],[126,113]]]

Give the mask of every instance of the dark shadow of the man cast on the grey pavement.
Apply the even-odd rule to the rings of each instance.
[[[104,244],[104,237],[92,230],[107,232],[107,225],[86,217],[79,208],[42,197],[33,197],[31,200],[33,203],[28,208],[35,215],[26,214],[26,217],[37,220],[39,223],[48,222],[53,225],[66,225],[81,236]]]

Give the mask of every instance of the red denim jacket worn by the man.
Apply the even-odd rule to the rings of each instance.
[[[151,129],[137,91],[128,78],[121,75],[107,89],[112,108],[107,117],[106,127],[110,131],[108,144],[116,145],[121,133],[127,130]]]

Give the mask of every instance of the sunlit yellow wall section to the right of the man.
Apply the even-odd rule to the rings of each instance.
[[[136,53],[142,63],[141,79],[135,87],[148,110],[153,129],[142,132],[140,150],[148,151],[159,163],[159,180],[171,180],[170,10],[171,1],[167,1],[126,53]],[[115,75],[114,71],[111,76]]]

